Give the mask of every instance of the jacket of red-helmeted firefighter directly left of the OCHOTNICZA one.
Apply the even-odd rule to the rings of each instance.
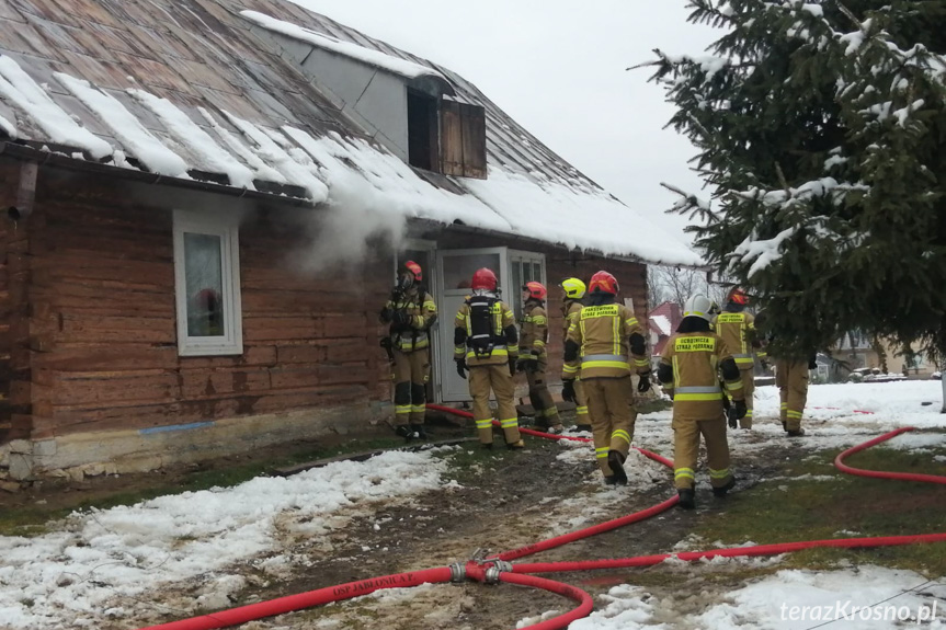
[[[566,336],[562,380],[630,376],[628,346],[637,374],[649,374],[643,329],[629,308],[619,303],[585,306],[574,316]]]

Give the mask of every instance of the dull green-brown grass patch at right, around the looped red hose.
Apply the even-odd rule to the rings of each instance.
[[[834,453],[791,461],[786,479],[762,483],[727,500],[726,511],[700,519],[695,534],[707,541],[764,545],[814,539],[902,536],[944,531],[946,486],[868,479],[830,472]],[[943,474],[932,456],[874,448],[848,458],[851,466]],[[798,479],[805,474],[831,480]],[[870,550],[812,549],[793,553],[788,565],[823,569],[843,559],[946,574],[946,543]]]

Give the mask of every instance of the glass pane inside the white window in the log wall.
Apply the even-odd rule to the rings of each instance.
[[[187,336],[224,336],[221,239],[184,232]]]

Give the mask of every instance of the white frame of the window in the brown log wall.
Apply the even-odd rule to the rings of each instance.
[[[184,233],[220,238],[220,276],[224,296],[224,336],[187,334],[187,282]],[[174,294],[178,306],[178,355],[226,356],[243,354],[243,312],[240,298],[240,236],[232,217],[174,210]]]

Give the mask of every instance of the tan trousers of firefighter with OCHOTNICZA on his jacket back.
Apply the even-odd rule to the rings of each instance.
[[[673,482],[677,490],[696,485],[696,458],[699,455],[699,436],[706,443],[706,459],[709,465],[709,482],[721,488],[732,479],[729,460],[729,443],[726,439],[726,419],[677,420],[673,419]]]

